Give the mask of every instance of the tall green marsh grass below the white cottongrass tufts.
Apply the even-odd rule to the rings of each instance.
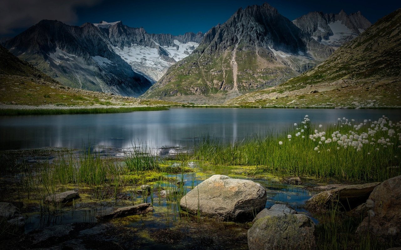
[[[356,132],[367,133],[369,125]],[[305,126],[307,128],[302,128],[304,132],[299,136],[295,134],[300,133],[300,128],[293,128],[279,135],[265,138],[255,136],[232,144],[205,137],[195,144],[193,154],[196,159],[209,164],[255,166],[255,173],[268,172],[277,176],[312,176],[369,182],[383,181],[401,174],[399,167],[392,167],[400,166],[398,136],[389,136],[387,131],[379,130],[369,138],[373,144],[363,144],[360,149],[353,146],[344,148],[334,142],[319,144],[319,137],[315,141],[310,139],[309,135],[314,134],[315,129],[321,132],[323,128],[310,123]],[[326,136],[331,138],[330,134],[334,132],[351,135],[354,128],[338,123],[324,130]],[[401,132],[399,128],[397,132]],[[291,140],[288,135],[292,135]],[[302,138],[302,135],[305,137]],[[379,144],[377,141],[380,138],[387,138],[388,141]]]

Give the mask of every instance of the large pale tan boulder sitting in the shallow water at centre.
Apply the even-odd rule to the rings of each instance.
[[[261,184],[216,174],[182,197],[180,206],[192,214],[199,210],[218,220],[245,221],[254,218],[265,207],[266,200]]]

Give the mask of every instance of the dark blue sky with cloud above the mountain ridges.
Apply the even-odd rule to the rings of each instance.
[[[224,23],[239,8],[264,2],[290,20],[312,11],[344,10],[350,14],[359,10],[374,23],[401,8],[401,1],[394,0],[2,0],[0,36],[15,36],[43,19],[71,25],[121,20],[130,27],[144,27],[148,33],[205,33],[216,24]]]

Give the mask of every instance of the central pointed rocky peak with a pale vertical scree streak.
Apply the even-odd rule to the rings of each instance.
[[[172,65],[143,96],[223,102],[283,83],[332,52],[269,4],[248,6],[209,30],[198,48]]]

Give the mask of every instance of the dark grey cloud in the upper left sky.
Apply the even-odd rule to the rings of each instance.
[[[65,23],[77,21],[77,7],[93,6],[101,0],[2,0],[0,34],[28,28],[43,19]]]

